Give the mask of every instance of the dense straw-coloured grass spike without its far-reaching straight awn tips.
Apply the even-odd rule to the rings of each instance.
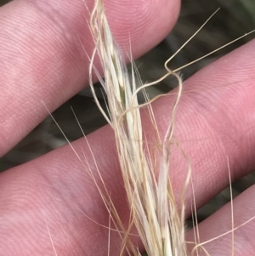
[[[150,160],[148,160],[148,154],[146,156],[146,150],[144,150],[148,145],[144,142],[140,106],[137,99],[137,94],[141,88],[137,88],[135,84],[134,72],[131,81],[128,79],[124,58],[111,35],[101,0],[95,3],[90,26],[95,43],[92,62],[95,54],[98,54],[104,70],[104,88],[111,114],[111,120],[109,119],[108,122],[115,132],[122,178],[132,214],[130,225],[134,223],[136,226],[149,256],[187,255],[184,240],[184,192],[181,196],[181,208],[178,210],[171,180],[168,176],[170,152],[173,144],[174,116],[181,95],[182,80],[177,73],[167,69],[167,74],[164,77],[169,75],[176,77],[179,91],[164,139],[160,140],[150,102],[145,104],[148,105],[151,125],[155,129],[158,142],[157,154],[160,155],[160,163],[157,164],[154,162],[156,157],[152,156],[154,154],[152,153]],[[91,77],[93,70],[92,63],[90,65]],[[102,81],[100,77],[99,79]],[[150,86],[150,84],[145,84],[142,88],[146,86]],[[92,83],[91,87],[93,88]],[[107,116],[106,113],[104,115]],[[147,151],[150,150],[147,149]],[[190,168],[184,191],[189,179]],[[116,212],[111,214],[118,218]],[[126,247],[130,228],[127,228],[127,234],[123,237],[122,248]],[[131,249],[133,252],[137,250],[136,245],[129,243],[129,249],[130,246],[133,247]]]

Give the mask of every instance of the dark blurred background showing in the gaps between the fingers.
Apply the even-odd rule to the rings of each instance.
[[[7,2],[9,1],[0,0],[1,5]],[[218,8],[220,10],[207,23],[207,26],[171,61],[172,69],[185,65],[225,43],[229,43],[236,37],[255,29],[254,0],[184,0],[178,22],[173,31],[156,48],[136,60],[142,80],[144,82],[154,81],[165,74],[163,64],[166,59],[176,52]],[[194,65],[190,65],[182,71],[184,79],[254,37],[255,34],[245,37],[218,51],[218,53],[212,54]],[[96,87],[100,94],[99,85]],[[153,97],[156,94],[167,92],[173,87],[174,82],[169,78],[161,82],[160,85],[150,88],[148,93]],[[104,100],[102,99],[103,102]],[[75,111],[85,134],[93,132],[106,123],[94,104],[89,88],[82,90],[82,92],[68,100],[64,105],[61,105],[53,113],[59,126],[71,141],[82,137],[71,107]],[[16,145],[12,151],[9,151],[7,155],[0,159],[0,171],[3,172],[8,168],[30,161],[65,144],[66,141],[59,128],[57,128],[51,117],[47,117],[19,145]],[[237,196],[248,186],[253,185],[255,183],[254,177],[254,174],[250,174],[241,180],[235,181],[233,184],[233,196]],[[207,218],[208,215],[215,212],[226,202],[229,202],[229,188],[222,191],[198,211],[199,221]]]

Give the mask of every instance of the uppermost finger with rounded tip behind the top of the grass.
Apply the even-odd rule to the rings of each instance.
[[[92,9],[94,1],[86,3]],[[105,9],[117,43],[126,52],[131,44],[136,58],[167,35],[179,2],[109,0]],[[20,0],[1,9],[0,156],[46,117],[41,100],[53,111],[88,83],[88,20],[82,0]]]

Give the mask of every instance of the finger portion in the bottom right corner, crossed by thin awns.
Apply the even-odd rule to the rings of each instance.
[[[200,242],[205,243],[202,246],[209,253],[206,254],[203,250],[200,250],[199,255],[249,256],[254,254],[255,219],[252,219],[255,217],[254,192],[255,186],[253,185],[233,201],[233,223],[234,229],[236,228],[234,231],[234,243],[232,240],[233,233],[230,232],[233,229],[230,202],[198,225]],[[195,242],[193,231],[189,230],[187,233],[187,240],[190,242]],[[223,234],[225,235],[222,236]],[[191,245],[190,247],[192,248]]]

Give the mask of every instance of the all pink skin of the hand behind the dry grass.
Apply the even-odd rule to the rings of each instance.
[[[91,9],[93,4],[88,2]],[[116,41],[123,50],[131,42],[134,58],[167,35],[179,10],[175,0],[122,0],[122,4],[108,0],[105,5]],[[89,55],[93,42],[86,19],[88,12],[80,0],[15,0],[0,9],[1,156],[48,115],[41,100],[54,111],[88,82],[88,58],[82,46]],[[185,82],[184,91],[195,91],[183,94],[175,133],[192,163],[198,208],[229,185],[227,157],[233,180],[255,167],[254,47],[253,40]],[[161,134],[166,131],[173,100],[170,95],[154,104]],[[143,118],[144,124],[149,122]],[[88,143],[111,189],[111,199],[127,223],[111,128],[90,134]],[[73,146],[81,157],[85,153],[95,172],[86,141],[79,139]],[[100,225],[108,225],[109,213],[86,168],[67,145],[1,174],[1,255],[54,255],[54,248],[61,256],[107,255],[108,230]],[[186,166],[177,151],[173,151],[171,171],[178,193]],[[254,193],[252,186],[235,198],[235,226],[254,215]],[[191,201],[188,190],[187,215]],[[227,205],[201,223],[201,241],[229,230],[230,213]],[[255,252],[254,230],[252,220],[235,232],[235,256]],[[193,241],[192,236],[192,231],[187,232],[188,240]],[[133,239],[141,245],[138,238]],[[110,255],[118,255],[119,247],[120,239],[113,231]],[[207,249],[211,255],[230,255],[231,237],[223,236]]]

